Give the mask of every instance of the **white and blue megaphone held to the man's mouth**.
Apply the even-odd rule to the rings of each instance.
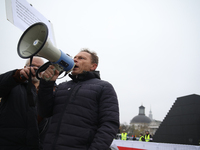
[[[53,46],[48,39],[48,28],[42,22],[35,23],[26,29],[18,42],[17,52],[21,58],[32,56],[46,58],[59,72],[70,72],[75,66],[71,57]]]

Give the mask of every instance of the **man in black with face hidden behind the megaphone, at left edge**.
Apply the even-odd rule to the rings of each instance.
[[[39,80],[35,72],[43,64],[41,58],[33,57],[32,64],[28,59],[23,69],[15,69],[0,75],[1,150],[39,150],[35,107]],[[28,87],[30,93],[27,92]]]

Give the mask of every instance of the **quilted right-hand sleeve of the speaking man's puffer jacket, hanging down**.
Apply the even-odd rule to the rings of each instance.
[[[108,83],[103,87],[99,99],[99,128],[88,150],[107,149],[115,138],[118,129],[117,95],[112,85]]]

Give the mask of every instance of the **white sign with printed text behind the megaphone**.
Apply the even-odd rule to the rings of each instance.
[[[31,4],[29,4],[26,0],[5,0],[5,3],[8,21],[22,31],[25,31],[34,23],[45,23],[49,29],[49,39],[52,44],[56,46],[51,22],[40,14]]]

